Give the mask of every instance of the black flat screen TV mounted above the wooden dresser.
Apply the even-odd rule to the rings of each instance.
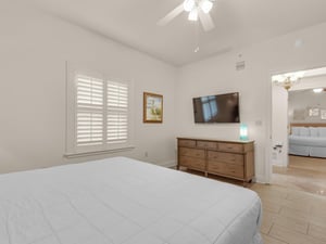
[[[239,92],[193,98],[195,123],[240,123]]]

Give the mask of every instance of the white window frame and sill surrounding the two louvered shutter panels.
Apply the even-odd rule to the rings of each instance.
[[[122,79],[111,78],[104,73],[88,70],[85,68],[76,68],[66,64],[66,157],[89,156],[105,153],[115,153],[121,151],[133,150],[134,146],[134,82],[122,81]],[[103,125],[106,124],[106,82],[113,81],[117,84],[125,84],[128,87],[128,104],[127,104],[127,139],[125,142],[106,143],[106,125],[103,126],[103,143],[99,145],[77,145],[77,82],[76,76],[84,75],[104,80],[103,91]],[[104,138],[105,137],[105,138]]]

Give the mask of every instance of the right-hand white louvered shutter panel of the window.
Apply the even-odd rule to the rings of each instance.
[[[128,86],[106,82],[106,143],[128,140]]]

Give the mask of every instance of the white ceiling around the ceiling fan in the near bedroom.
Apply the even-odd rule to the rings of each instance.
[[[204,33],[183,13],[156,22],[183,0],[33,0],[66,20],[174,65],[184,65],[326,22],[326,0],[216,0]],[[199,43],[199,52],[195,53]]]

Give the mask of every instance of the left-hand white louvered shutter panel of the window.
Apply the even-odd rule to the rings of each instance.
[[[76,145],[102,145],[104,80],[76,75]]]

